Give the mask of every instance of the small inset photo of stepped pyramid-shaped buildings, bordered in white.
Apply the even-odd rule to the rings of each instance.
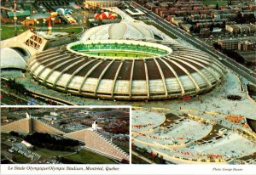
[[[129,163],[130,108],[1,109],[1,163]]]

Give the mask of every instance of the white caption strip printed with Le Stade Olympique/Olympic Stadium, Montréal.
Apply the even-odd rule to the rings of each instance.
[[[33,168],[33,170],[32,170]],[[70,170],[76,168],[77,170]],[[88,168],[88,169],[87,169]],[[97,169],[97,170],[96,170]],[[109,170],[112,169],[112,170]],[[180,175],[255,175],[256,165],[92,165],[92,164],[58,164],[58,165],[1,165],[1,174],[180,174]]]

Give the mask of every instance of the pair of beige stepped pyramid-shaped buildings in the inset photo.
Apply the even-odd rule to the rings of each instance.
[[[26,118],[2,125],[0,126],[0,131],[1,133],[15,131],[17,133],[25,134],[37,132],[60,135],[64,138],[78,140],[84,144],[85,150],[96,152],[97,154],[107,156],[120,162],[127,162],[130,160],[130,156],[125,153],[125,151],[121,150],[117,145],[113,144],[111,140],[108,140],[108,138],[105,138],[102,135],[100,127],[97,127],[97,121],[94,121],[89,128],[72,133],[64,133],[60,129],[50,126],[48,123],[40,121],[36,117],[32,117],[26,113]]]

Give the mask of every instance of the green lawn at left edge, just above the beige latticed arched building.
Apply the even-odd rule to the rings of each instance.
[[[17,26],[17,34],[23,33],[28,30],[28,26]],[[1,40],[9,39],[15,37],[15,27],[14,26],[1,26]]]

